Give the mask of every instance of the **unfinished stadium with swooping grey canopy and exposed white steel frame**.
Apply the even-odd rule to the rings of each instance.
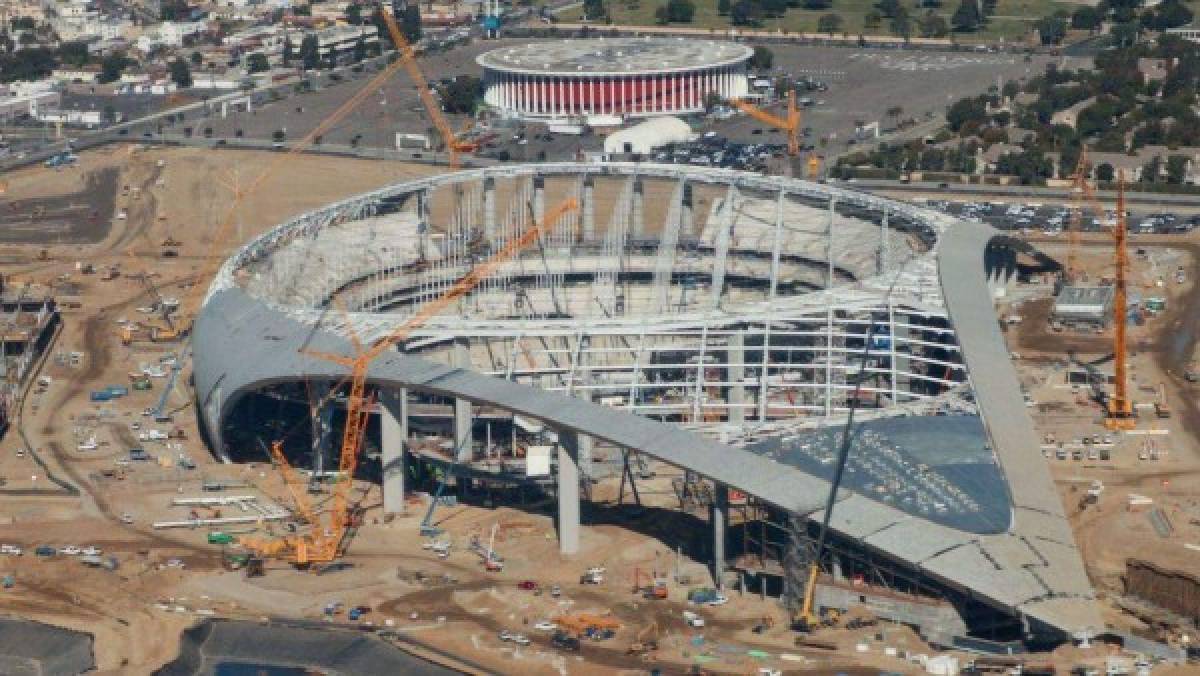
[[[246,394],[341,377],[301,348],[384,335],[560,196],[581,210],[372,366],[385,509],[401,507],[413,408],[446,402],[452,444],[439,460],[469,472],[496,450],[473,424],[486,407],[558,432],[565,555],[578,548],[580,477],[617,449],[712,481],[718,581],[727,489],[782,515],[786,580],[821,515],[830,431],[863,379],[832,578],[869,562],[949,600],[955,618],[913,621],[942,642],[995,617],[1033,640],[1102,627],[992,309],[1012,273],[1004,239],[828,185],[504,166],[295,217],[223,265],[197,318],[215,451],[235,455],[229,419]],[[328,429],[328,407],[320,419]]]

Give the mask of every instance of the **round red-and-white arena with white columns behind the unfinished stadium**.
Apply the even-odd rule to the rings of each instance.
[[[746,94],[754,50],[714,40],[534,42],[480,54],[485,101],[518,118],[698,113],[710,94]]]

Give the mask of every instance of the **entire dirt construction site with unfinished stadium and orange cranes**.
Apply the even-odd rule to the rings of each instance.
[[[6,175],[0,670],[1192,669],[1194,237],[462,169],[390,28],[449,166]]]

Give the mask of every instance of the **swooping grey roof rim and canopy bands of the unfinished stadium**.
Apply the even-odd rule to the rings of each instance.
[[[835,295],[878,293],[893,305],[904,295],[910,299],[905,303],[938,307],[955,328],[979,415],[946,418],[932,424],[926,420],[890,420],[860,425],[863,435],[870,432],[870,438],[865,438],[869,443],[862,444],[862,448],[871,453],[870,457],[859,456],[859,461],[878,460],[868,463],[875,474],[888,481],[904,481],[896,484],[898,489],[892,492],[900,501],[912,495],[916,513],[893,507],[884,499],[866,497],[864,493],[875,490],[880,481],[864,474],[864,480],[851,480],[845,486],[832,514],[832,526],[841,537],[853,539],[868,551],[886,555],[892,561],[911,566],[931,579],[970,593],[972,598],[1020,614],[1042,626],[1067,634],[1102,627],[1103,620],[1098,615],[1080,552],[1074,545],[1058,492],[1045,469],[1037,433],[996,322],[989,288],[995,270],[985,264],[988,258],[984,256],[990,243],[1000,237],[996,231],[836,186],[724,169],[546,163],[460,172],[452,180],[463,180],[463,177],[484,180],[522,172],[536,172],[542,177],[581,172],[610,177],[636,173],[698,183],[720,181],[746,191],[774,186],[781,195],[787,190],[797,195],[835,197],[839,204],[864,209],[886,207],[894,220],[902,215],[913,227],[924,228],[920,232],[932,233],[934,249],[906,267],[888,269],[876,279],[860,280],[854,288],[827,289],[796,299],[779,298],[756,310],[778,317],[780,309],[790,303],[812,301],[828,307]],[[312,237],[340,216],[362,217],[371,213],[368,207],[382,199],[413,195],[437,181],[448,180],[451,179],[419,179],[298,216],[251,243],[226,263],[210,289],[204,310],[197,317],[193,337],[197,403],[215,448],[222,448],[223,420],[240,396],[275,383],[341,378],[344,375],[342,369],[312,358],[307,352],[349,351],[349,340],[340,335],[338,327],[350,318],[317,325],[304,309],[282,307],[269,299],[247,294],[235,283],[234,270],[247,261],[268,256],[292,235]],[[748,317],[752,316],[739,313],[739,318]],[[636,321],[644,322],[644,317]],[[691,319],[678,316],[671,321]],[[538,322],[553,324],[557,319]],[[571,330],[578,330],[577,321],[564,322]],[[589,322],[599,324],[601,319]],[[386,325],[394,327],[395,317],[386,318]],[[637,449],[757,496],[780,509],[811,519],[821,518],[820,512],[814,510],[821,508],[828,483],[821,471],[811,467],[821,460],[821,449],[815,443],[820,433],[738,448],[625,411],[402,353],[386,353],[373,363],[370,379],[373,385],[383,388],[407,388],[497,406],[559,430],[592,436],[613,447]],[[934,448],[929,439],[918,438],[916,432],[923,424],[926,427],[936,424],[947,427],[943,432],[953,432],[953,439],[932,442],[955,447],[952,449],[953,457],[946,449]],[[955,429],[948,429],[950,425]],[[803,448],[805,443],[810,444],[808,449]],[[923,451],[934,453],[946,462],[935,466],[922,455]],[[930,467],[922,468],[922,463]],[[986,477],[988,490],[966,490],[965,481],[984,478],[978,472],[971,474],[972,465],[991,465],[989,471],[994,474]],[[857,472],[862,466],[859,462],[852,467]],[[1003,495],[1002,480],[1007,483],[1008,496]],[[950,490],[954,487],[965,491],[977,504],[955,497],[956,491]],[[913,491],[943,491],[956,502],[940,501],[944,503],[946,514],[932,519],[923,514],[920,501],[916,499],[918,493]],[[934,509],[936,512],[936,504]],[[953,514],[955,510],[958,516]],[[1007,512],[1007,519],[1000,512]]]

